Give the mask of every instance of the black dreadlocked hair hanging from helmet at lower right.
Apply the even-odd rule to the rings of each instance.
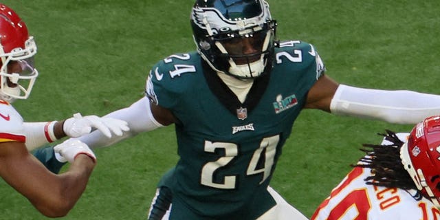
[[[417,189],[400,159],[400,148],[404,144],[393,132],[377,133],[384,136],[391,144],[362,144],[360,151],[366,153],[353,167],[371,168],[371,175],[366,177],[366,184],[404,190]]]

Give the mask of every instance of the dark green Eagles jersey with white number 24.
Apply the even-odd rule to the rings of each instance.
[[[272,208],[266,188],[323,71],[312,45],[282,42],[270,74],[256,78],[241,103],[197,52],[157,63],[147,80],[148,98],[179,120],[179,162],[162,179],[173,192],[171,216],[186,209],[200,219],[255,219]]]

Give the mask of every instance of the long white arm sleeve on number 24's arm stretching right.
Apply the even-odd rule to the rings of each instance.
[[[394,124],[416,124],[440,111],[440,96],[408,90],[364,89],[339,85],[331,113]]]

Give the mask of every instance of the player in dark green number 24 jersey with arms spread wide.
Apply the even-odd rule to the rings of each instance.
[[[336,83],[313,45],[276,41],[264,0],[197,0],[190,23],[197,51],[159,61],[147,96],[107,115],[130,131],[79,138],[108,146],[175,124],[179,161],[149,219],[307,219],[269,186],[301,110],[400,124],[440,111],[440,96]],[[157,216],[157,208],[169,215]]]

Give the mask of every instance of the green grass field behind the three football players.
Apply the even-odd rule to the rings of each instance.
[[[195,50],[192,0],[5,0],[35,37],[40,76],[14,105],[29,122],[104,115],[142,97],[149,68]],[[313,43],[340,83],[440,94],[440,1],[269,0],[278,39]],[[412,125],[303,111],[272,187],[308,217],[351,169],[362,143]],[[155,185],[177,161],[173,127],[96,150],[87,190],[63,219],[145,219]],[[0,181],[0,219],[45,219]]]

